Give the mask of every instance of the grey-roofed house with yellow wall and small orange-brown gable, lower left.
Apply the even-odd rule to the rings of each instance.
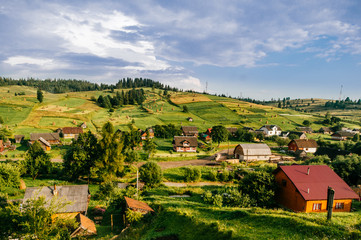
[[[78,226],[71,233],[72,237],[96,234],[96,227],[92,220],[85,215],[88,211],[90,192],[88,185],[64,185],[53,187],[29,187],[25,190],[23,204],[34,197],[43,196],[47,202],[53,198],[60,201],[69,202],[63,209],[52,216],[53,219],[74,219]]]

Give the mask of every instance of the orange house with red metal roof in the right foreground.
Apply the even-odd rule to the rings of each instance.
[[[274,171],[277,202],[296,212],[326,212],[327,189],[335,190],[333,211],[349,212],[358,195],[326,165],[279,166]]]

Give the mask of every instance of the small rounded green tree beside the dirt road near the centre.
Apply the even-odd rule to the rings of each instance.
[[[156,162],[147,162],[139,168],[140,179],[150,187],[155,187],[162,182],[162,169]]]

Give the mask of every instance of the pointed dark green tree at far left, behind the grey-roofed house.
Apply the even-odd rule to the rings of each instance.
[[[26,152],[24,166],[26,172],[31,175],[33,180],[39,174],[49,173],[51,171],[50,156],[41,147],[39,142],[34,142]]]

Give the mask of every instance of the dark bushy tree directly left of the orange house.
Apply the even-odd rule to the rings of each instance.
[[[272,173],[249,172],[241,180],[239,190],[248,194],[257,206],[272,207],[275,204],[276,184]]]

